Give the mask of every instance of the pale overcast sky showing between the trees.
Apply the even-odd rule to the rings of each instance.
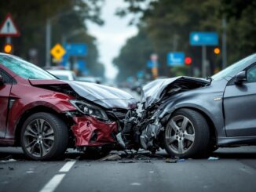
[[[105,65],[107,78],[115,78],[118,70],[112,65],[112,60],[119,55],[126,39],[137,34],[137,27],[127,25],[130,17],[115,16],[115,10],[120,7],[124,7],[123,0],[105,0],[101,13],[104,25],[88,24],[90,34],[97,38],[100,61]]]

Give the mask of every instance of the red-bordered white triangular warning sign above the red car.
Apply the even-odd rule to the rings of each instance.
[[[7,14],[4,22],[0,27],[0,36],[20,36],[20,31],[18,31],[16,24],[14,24],[13,17],[11,16],[10,13]]]

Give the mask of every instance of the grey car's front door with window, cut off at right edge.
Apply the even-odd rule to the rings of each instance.
[[[256,64],[247,68],[247,80],[225,89],[224,110],[227,136],[256,136]]]

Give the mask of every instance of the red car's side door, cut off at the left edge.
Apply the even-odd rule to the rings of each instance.
[[[9,95],[12,89],[12,81],[5,71],[0,69],[0,74],[3,78],[3,84],[0,85],[0,138],[5,137],[6,123],[8,118]]]

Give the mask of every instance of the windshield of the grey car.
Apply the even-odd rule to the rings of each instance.
[[[234,77],[238,72],[242,71],[244,68],[244,64],[247,63],[248,60],[251,60],[255,55],[247,56],[243,60],[239,60],[236,63],[233,63],[229,67],[224,70],[214,74],[211,78],[214,80],[218,80],[221,78]]]

